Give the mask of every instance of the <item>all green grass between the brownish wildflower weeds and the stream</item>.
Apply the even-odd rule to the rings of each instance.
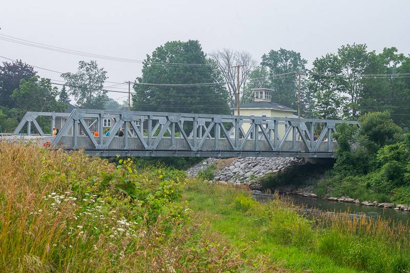
[[[249,192],[229,186],[192,182],[185,196],[197,217],[209,221],[233,245],[248,249],[244,259],[262,255],[278,268],[299,272],[391,272],[410,268],[406,257],[408,229],[392,233],[388,223],[351,221],[342,216],[323,217],[316,225],[300,217],[289,204],[259,204],[249,199]],[[372,234],[370,225],[378,226],[380,233]],[[356,233],[364,229],[367,231]],[[403,241],[395,241],[395,234]]]

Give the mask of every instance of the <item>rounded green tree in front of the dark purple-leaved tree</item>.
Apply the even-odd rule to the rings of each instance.
[[[20,80],[18,89],[13,91],[11,97],[19,109],[38,112],[60,112],[64,105],[56,97],[59,92],[57,87],[52,87],[50,79],[33,76],[30,79]]]

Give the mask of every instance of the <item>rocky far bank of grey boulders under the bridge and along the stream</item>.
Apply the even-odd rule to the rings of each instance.
[[[410,205],[377,200],[359,200],[349,196],[330,196],[315,193],[317,181],[326,179],[325,172],[332,164],[305,163],[295,158],[208,158],[191,167],[187,173],[196,176],[201,170],[215,166],[213,178],[221,183],[244,185],[253,191],[278,191],[280,194],[323,198],[327,201],[354,203],[360,206],[375,206],[410,212]],[[329,190],[328,190],[329,191]]]

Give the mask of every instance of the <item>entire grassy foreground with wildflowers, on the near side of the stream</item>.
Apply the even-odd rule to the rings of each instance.
[[[36,145],[0,142],[1,272],[408,272],[410,230],[306,219],[281,200]]]

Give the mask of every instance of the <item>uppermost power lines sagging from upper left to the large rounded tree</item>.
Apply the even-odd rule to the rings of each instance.
[[[25,46],[31,46],[31,47],[35,47],[35,48],[46,49],[46,50],[50,50],[50,51],[56,51],[56,52],[60,52],[60,53],[72,54],[72,55],[77,55],[77,56],[100,58],[100,59],[107,59],[107,60],[115,60],[115,61],[121,61],[121,62],[131,62],[131,63],[137,63],[137,64],[143,64],[144,63],[143,60],[136,60],[136,59],[129,59],[129,58],[119,58],[119,57],[114,57],[114,56],[89,53],[89,52],[85,52],[85,51],[72,50],[72,49],[67,49],[67,48],[63,48],[63,47],[56,47],[56,46],[41,44],[41,43],[37,43],[35,41],[21,39],[21,38],[17,38],[17,37],[5,35],[5,34],[0,34],[0,36],[2,36],[2,37],[0,37],[0,40],[9,41],[11,43],[25,45]],[[210,64],[188,64],[188,63],[182,63],[182,62],[159,62],[159,61],[147,61],[147,62],[149,64],[169,65],[169,66],[211,67]]]

